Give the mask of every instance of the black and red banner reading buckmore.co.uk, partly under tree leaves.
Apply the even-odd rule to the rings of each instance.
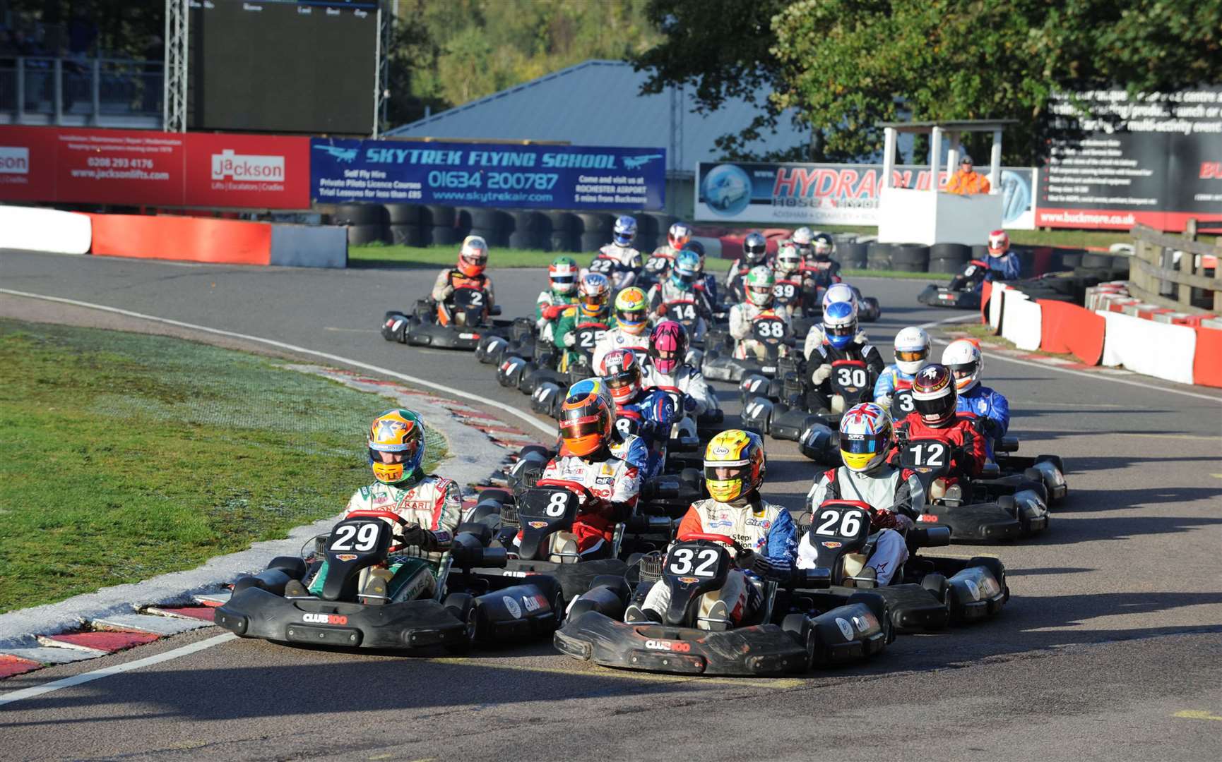
[[[1036,225],[1128,230],[1141,222],[1182,231],[1189,217],[1222,220],[1222,88],[1139,100],[1123,89],[1077,98],[1100,118],[1081,120],[1081,139],[1052,145]],[[1062,95],[1052,112],[1068,118],[1077,111]]]

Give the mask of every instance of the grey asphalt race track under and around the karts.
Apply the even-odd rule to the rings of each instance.
[[[0,253],[2,288],[266,337],[524,405],[469,355],[378,336],[382,311],[409,305],[433,275]],[[506,315],[523,314],[541,281],[525,270],[494,277]],[[904,325],[953,316],[916,304],[919,281],[859,285],[882,302],[884,320],[869,330],[880,344]],[[7,296],[0,315],[139,325]],[[1222,758],[1217,396],[1000,358],[986,376],[1011,399],[1023,452],[1063,455],[1070,485],[1044,536],[946,548],[1006,563],[1014,597],[992,622],[778,680],[611,672],[549,644],[457,659],[229,640],[0,707],[0,757]],[[814,473],[793,447],[769,441],[769,498],[800,507]],[[216,633],[12,678],[0,700]]]

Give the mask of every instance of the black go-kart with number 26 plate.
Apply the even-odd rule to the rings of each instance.
[[[919,557],[923,547],[951,543],[945,526],[901,531],[908,545],[908,561],[877,587],[873,569],[865,567],[877,535],[870,532],[869,504],[860,501],[826,501],[811,510],[807,541],[815,550],[816,568],[831,573],[831,592],[848,595],[868,587],[887,601],[891,622],[899,633],[937,630],[947,624],[973,622],[1001,611],[1009,600],[1006,568],[996,558]],[[897,530],[899,531],[899,530]]]

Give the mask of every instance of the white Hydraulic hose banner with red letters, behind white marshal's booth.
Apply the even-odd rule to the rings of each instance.
[[[927,189],[927,167],[901,166],[895,184]],[[948,180],[941,173],[938,187]],[[882,165],[700,162],[695,219],[716,222],[877,225]],[[1002,167],[1003,225],[1035,227],[1035,170]]]

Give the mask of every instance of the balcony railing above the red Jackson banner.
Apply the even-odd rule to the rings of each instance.
[[[10,123],[100,125],[160,117],[161,61],[21,56],[0,61],[0,116]]]

